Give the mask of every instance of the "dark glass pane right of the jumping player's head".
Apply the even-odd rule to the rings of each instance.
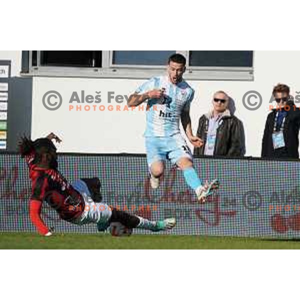
[[[251,67],[253,51],[189,51],[190,66]]]

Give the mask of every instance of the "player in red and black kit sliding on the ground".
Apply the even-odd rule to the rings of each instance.
[[[175,226],[174,218],[150,221],[102,203],[101,184],[96,177],[78,179],[72,184],[67,182],[57,169],[53,139],[61,142],[54,133],[34,141],[23,137],[19,142],[19,151],[28,164],[32,184],[29,201],[30,219],[40,234],[44,236],[52,234],[41,219],[43,201],[55,209],[61,219],[78,225],[95,223],[98,231],[104,231],[110,222],[120,222],[127,228],[143,228],[151,231],[171,229]]]

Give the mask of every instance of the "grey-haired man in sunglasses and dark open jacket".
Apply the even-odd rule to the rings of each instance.
[[[214,93],[213,109],[199,118],[197,136],[203,145],[194,155],[243,156],[245,153],[242,122],[228,109],[229,96],[222,90]]]

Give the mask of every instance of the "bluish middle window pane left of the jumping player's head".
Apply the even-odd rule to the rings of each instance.
[[[113,51],[112,64],[165,65],[170,51]]]

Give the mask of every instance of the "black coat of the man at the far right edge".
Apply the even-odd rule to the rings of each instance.
[[[264,126],[264,133],[262,137],[261,157],[286,157],[286,158],[298,158],[298,146],[299,146],[299,126],[300,126],[300,110],[299,107],[294,105],[292,100],[287,102],[290,106],[289,111],[285,118],[283,126],[283,137],[285,147],[274,149],[272,133],[274,130],[275,116],[278,110],[276,108],[268,114]],[[283,108],[281,108],[283,109]]]

